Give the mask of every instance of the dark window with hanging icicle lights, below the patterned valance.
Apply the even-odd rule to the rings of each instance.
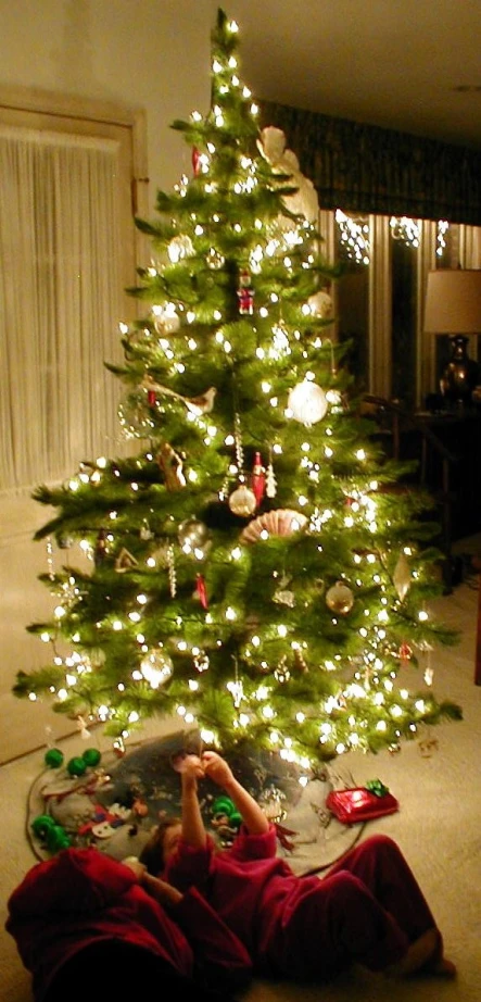
[[[427,273],[479,267],[481,229],[427,220],[322,213],[331,255],[344,263],[334,289],[338,334],[352,347],[347,364],[359,391],[425,406],[439,390],[448,337],[423,333]],[[471,338],[470,355],[478,355]]]

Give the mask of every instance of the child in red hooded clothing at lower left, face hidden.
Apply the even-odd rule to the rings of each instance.
[[[245,948],[194,888],[94,848],[35,864],[8,912],[35,1002],[124,1002],[152,982],[155,997],[227,1002],[250,979]]]

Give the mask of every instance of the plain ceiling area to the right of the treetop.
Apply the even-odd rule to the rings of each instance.
[[[481,0],[220,5],[257,99],[481,149]]]

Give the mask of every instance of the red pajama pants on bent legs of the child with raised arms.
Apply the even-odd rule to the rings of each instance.
[[[264,918],[266,906],[264,899]],[[271,973],[329,980],[352,963],[371,970],[395,963],[435,922],[396,843],[376,835],[322,879],[299,878],[299,894],[268,926],[263,960]]]

